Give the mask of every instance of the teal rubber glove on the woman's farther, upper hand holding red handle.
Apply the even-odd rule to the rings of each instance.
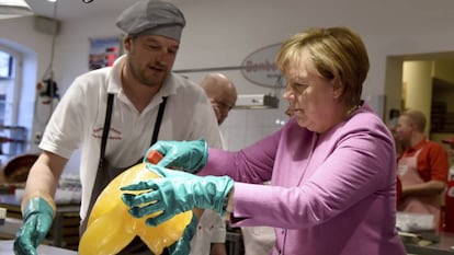
[[[157,141],[145,154],[157,150],[163,159],[157,165],[197,173],[208,160],[208,144],[205,140],[195,141]],[[147,162],[146,162],[147,163]]]

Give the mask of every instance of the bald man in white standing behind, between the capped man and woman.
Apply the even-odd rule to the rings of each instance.
[[[212,103],[218,125],[227,118],[237,102],[234,83],[222,73],[208,73],[201,86]],[[223,148],[226,149],[223,140]],[[197,225],[197,234],[191,243],[192,255],[226,255],[226,224],[224,219],[212,210],[205,210]],[[211,246],[211,250],[208,248]]]

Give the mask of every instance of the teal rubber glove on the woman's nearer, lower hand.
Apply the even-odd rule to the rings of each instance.
[[[125,192],[122,199],[130,207],[129,213],[133,217],[141,218],[161,211],[160,215],[146,220],[147,224],[155,227],[180,212],[194,208],[225,213],[228,195],[235,184],[232,178],[201,177],[151,164],[147,167],[163,178],[152,178],[121,187],[121,190]],[[127,192],[139,192],[139,194]]]

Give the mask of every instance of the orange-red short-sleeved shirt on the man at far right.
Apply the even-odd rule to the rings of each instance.
[[[446,150],[438,142],[422,139],[415,147],[404,151],[404,157],[412,157],[420,148],[418,155],[418,173],[424,182],[431,179],[447,183],[449,158]]]

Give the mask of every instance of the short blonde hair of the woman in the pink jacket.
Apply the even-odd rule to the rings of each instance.
[[[277,68],[285,73],[290,63],[300,61],[303,51],[309,54],[321,77],[340,82],[347,104],[360,104],[370,63],[367,50],[356,33],[347,27],[314,27],[295,34],[281,46]]]

